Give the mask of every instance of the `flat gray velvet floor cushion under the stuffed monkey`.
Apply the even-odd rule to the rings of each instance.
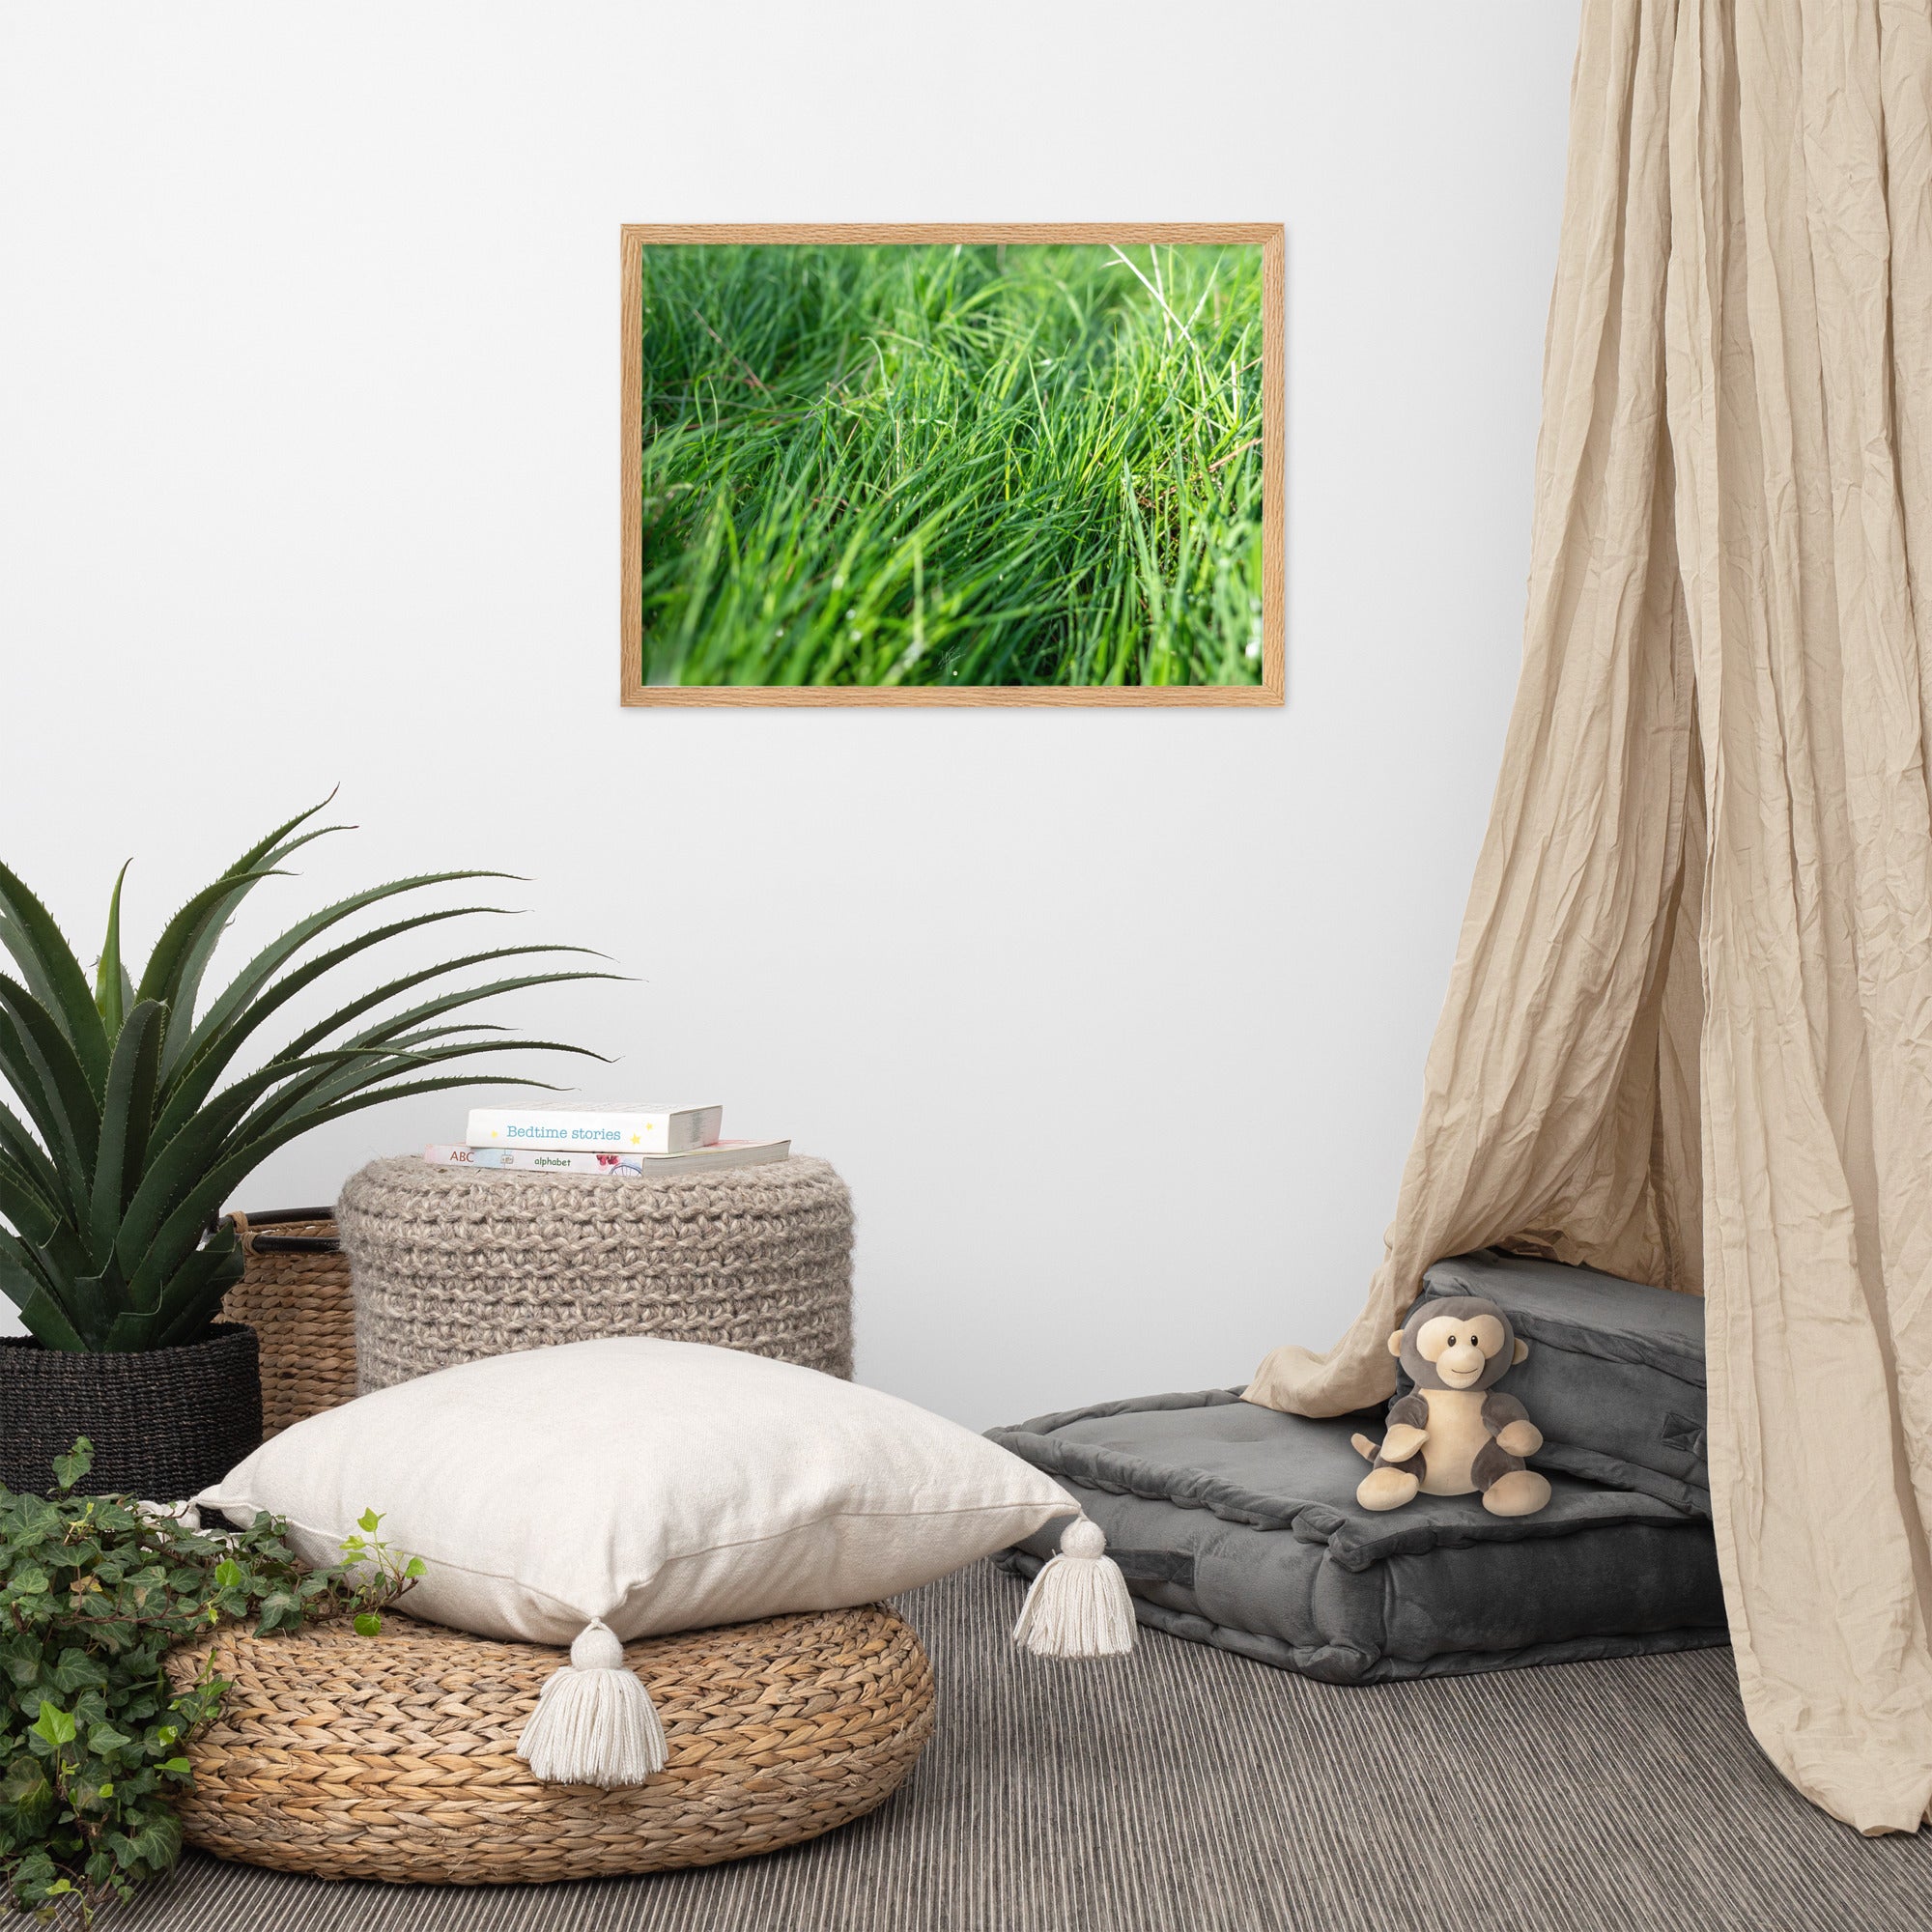
[[[1374,1513],[1349,1443],[1233,1389],[1039,1416],[995,1441],[1107,1532],[1142,1623],[1329,1683],[1687,1650],[1727,1640],[1710,1526],[1561,1472],[1534,1517],[1474,1495]],[[1061,1524],[1009,1551],[1032,1575]]]

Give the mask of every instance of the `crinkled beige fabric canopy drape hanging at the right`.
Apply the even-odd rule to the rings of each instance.
[[[1391,1393],[1422,1269],[1706,1296],[1756,1737],[1932,1801],[1932,0],[1584,0],[1526,653],[1370,1302],[1252,1401]]]

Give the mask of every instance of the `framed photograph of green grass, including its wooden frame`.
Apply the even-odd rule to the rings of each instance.
[[[628,226],[626,705],[1279,705],[1279,224]]]

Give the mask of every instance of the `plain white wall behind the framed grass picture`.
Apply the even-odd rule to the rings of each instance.
[[[1515,682],[1575,31],[6,0],[0,854],[87,958],[124,856],[145,943],[338,781],[361,831],[269,914],[529,873],[524,925],[638,983],[522,1024],[833,1157],[860,1374],[966,1422],[1325,1345]],[[1287,709],[620,711],[618,224],[730,218],[1283,220]]]

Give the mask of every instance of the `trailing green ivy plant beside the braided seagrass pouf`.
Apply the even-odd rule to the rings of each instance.
[[[176,1689],[166,1656],[226,1623],[259,1634],[381,1611],[423,1575],[363,1515],[336,1569],[309,1569],[276,1517],[213,1532],[126,1495],[73,1495],[81,1437],[50,1495],[0,1488],[0,1886],[43,1920],[95,1913],[172,1870],[189,1739],[220,1710],[213,1669]]]

